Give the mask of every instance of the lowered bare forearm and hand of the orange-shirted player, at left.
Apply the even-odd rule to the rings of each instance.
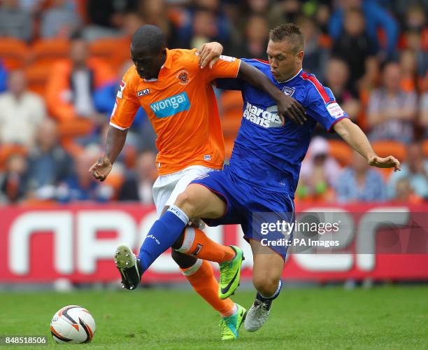
[[[110,125],[106,141],[106,154],[98,158],[97,162],[89,169],[89,172],[95,179],[99,181],[106,180],[113,167],[113,163],[122,151],[124,142],[127,139],[127,133],[128,130],[119,130]]]

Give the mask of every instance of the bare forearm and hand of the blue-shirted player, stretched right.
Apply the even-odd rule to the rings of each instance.
[[[349,146],[366,158],[372,167],[394,168],[396,172],[397,170],[401,170],[401,165],[397,158],[394,158],[392,155],[386,158],[376,155],[366,134],[348,118],[339,120],[333,128]]]

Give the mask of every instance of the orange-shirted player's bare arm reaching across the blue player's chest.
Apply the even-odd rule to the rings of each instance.
[[[276,101],[278,115],[281,118],[290,118],[294,123],[300,125],[306,121],[306,112],[303,106],[292,97],[281,92],[264,73],[254,66],[241,61],[237,78],[241,78],[269,94]]]

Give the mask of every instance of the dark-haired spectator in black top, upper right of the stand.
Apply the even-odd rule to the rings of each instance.
[[[366,60],[376,54],[375,45],[366,33],[364,15],[357,8],[345,12],[345,23],[341,36],[334,39],[332,54],[348,63],[350,88],[357,90],[358,80],[364,76]]]

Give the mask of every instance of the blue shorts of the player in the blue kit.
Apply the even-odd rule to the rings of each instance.
[[[226,202],[227,209],[222,217],[202,218],[208,226],[241,224],[247,241],[260,241],[285,259],[292,232],[283,230],[285,226],[278,227],[277,223],[294,221],[294,202],[290,195],[252,186],[231,172],[229,166],[209,172],[191,183],[205,186]]]

